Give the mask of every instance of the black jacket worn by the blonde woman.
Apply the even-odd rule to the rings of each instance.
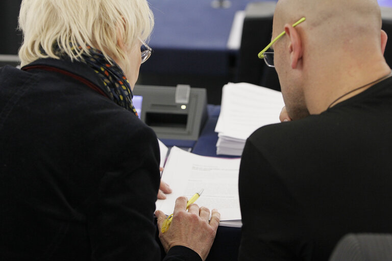
[[[87,65],[26,68],[0,68],[0,259],[159,260],[155,133]]]

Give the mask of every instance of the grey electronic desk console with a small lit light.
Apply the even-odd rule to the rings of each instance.
[[[140,119],[159,139],[194,142],[199,138],[207,119],[206,89],[136,85],[133,94]],[[138,99],[141,105],[136,104]]]

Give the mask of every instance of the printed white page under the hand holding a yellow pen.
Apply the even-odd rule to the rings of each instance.
[[[200,156],[178,147],[170,150],[162,178],[173,190],[166,199],[158,199],[157,210],[173,213],[176,198],[190,198],[204,189],[195,202],[212,210],[216,208],[221,220],[240,220],[238,172],[240,159]]]

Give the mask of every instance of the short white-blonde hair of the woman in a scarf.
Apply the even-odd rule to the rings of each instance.
[[[53,49],[57,43],[71,60],[80,61],[80,54],[88,54],[90,45],[107,59],[118,59],[128,66],[117,37],[133,46],[139,38],[147,39],[153,26],[153,13],[146,0],[23,0],[19,58],[22,66],[39,58],[59,59]],[[79,45],[82,50],[72,48]]]

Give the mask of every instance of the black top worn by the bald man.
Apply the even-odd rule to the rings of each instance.
[[[326,261],[347,233],[391,233],[391,159],[392,77],[258,129],[239,171],[239,260]]]

